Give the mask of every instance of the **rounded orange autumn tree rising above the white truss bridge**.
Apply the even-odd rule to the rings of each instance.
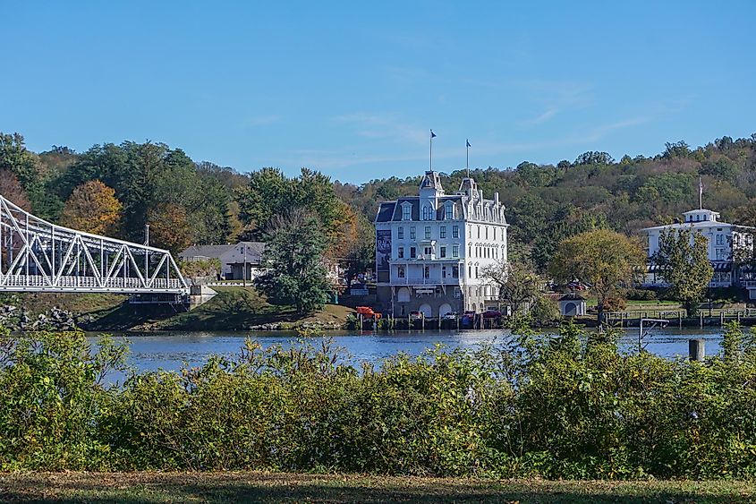
[[[113,188],[91,180],[74,189],[65,201],[61,223],[86,233],[112,235],[122,209]]]

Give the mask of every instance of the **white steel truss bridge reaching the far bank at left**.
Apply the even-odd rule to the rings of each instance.
[[[171,253],[82,233],[0,195],[0,292],[187,295]]]

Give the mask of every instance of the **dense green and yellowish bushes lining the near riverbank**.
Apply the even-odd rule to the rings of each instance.
[[[751,478],[756,356],[728,328],[707,363],[620,355],[616,334],[527,329],[355,369],[325,340],[249,341],[181,373],[123,372],[81,333],[5,337],[0,465],[548,478]],[[325,341],[325,342],[324,342]]]

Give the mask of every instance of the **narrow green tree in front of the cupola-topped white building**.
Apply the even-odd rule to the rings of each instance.
[[[694,317],[714,275],[709,262],[709,240],[681,228],[662,231],[658,242],[651,262],[669,285],[668,295],[683,303],[688,317]]]

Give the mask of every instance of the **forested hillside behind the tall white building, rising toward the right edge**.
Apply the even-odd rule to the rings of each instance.
[[[442,175],[446,191],[455,191],[463,170]],[[756,133],[750,138],[723,137],[699,148],[684,141],[667,143],[652,158],[585,152],[574,161],[514,168],[471,170],[490,196],[499,192],[515,252],[531,254],[544,268],[567,236],[591,227],[609,227],[633,235],[641,227],[672,222],[698,208],[699,177],[703,204],[722,218],[756,226]],[[360,187],[336,183],[336,192],[372,218],[378,201],[416,194],[420,176],[373,180]]]

